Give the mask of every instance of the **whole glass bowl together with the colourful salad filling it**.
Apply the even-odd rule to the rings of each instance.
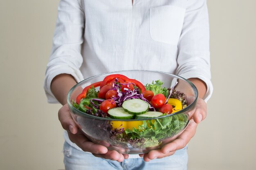
[[[180,135],[197,97],[187,79],[132,70],[85,79],[70,90],[67,101],[72,118],[91,141],[119,153],[141,154]]]

